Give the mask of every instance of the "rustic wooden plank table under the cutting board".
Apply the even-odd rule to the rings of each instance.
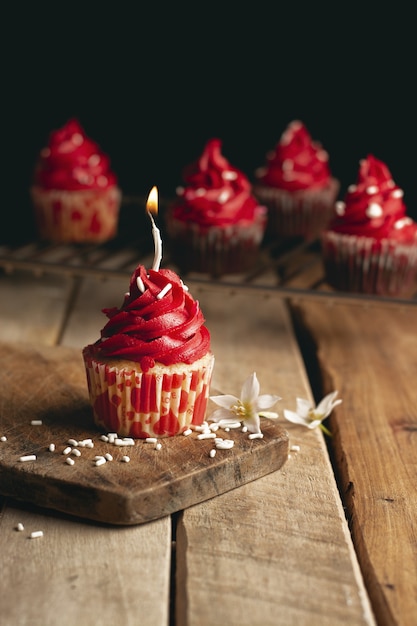
[[[125,290],[120,277],[2,272],[0,341],[80,350]],[[279,471],[134,526],[0,497],[1,624],[415,625],[416,308],[193,293],[212,334],[213,386],[238,394],[256,371],[261,391],[282,397],[298,451]],[[282,418],[319,380],[343,399],[328,424],[334,465],[320,430]]]

